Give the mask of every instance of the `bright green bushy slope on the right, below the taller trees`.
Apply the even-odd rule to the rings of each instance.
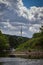
[[[32,38],[16,49],[17,51],[43,50],[43,37]]]

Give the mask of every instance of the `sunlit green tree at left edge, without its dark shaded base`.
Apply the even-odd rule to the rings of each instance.
[[[0,31],[0,50],[8,49],[9,43],[6,37]]]

